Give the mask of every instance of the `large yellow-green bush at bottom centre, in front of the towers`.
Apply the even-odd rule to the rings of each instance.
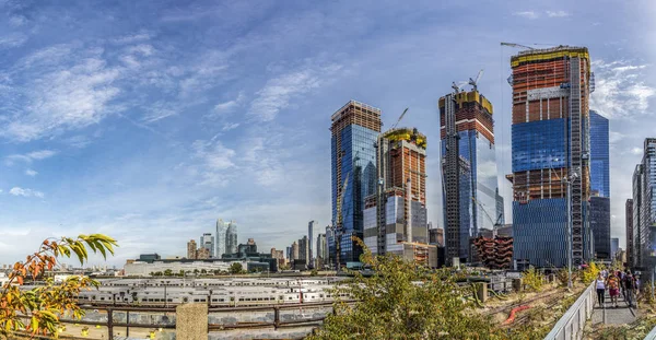
[[[335,289],[335,313],[308,339],[503,339],[490,319],[472,310],[470,286],[456,284],[449,269],[430,271],[395,255],[373,256],[362,241],[364,278]],[[336,295],[339,296],[339,295]]]

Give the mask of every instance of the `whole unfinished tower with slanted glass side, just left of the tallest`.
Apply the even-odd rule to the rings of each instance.
[[[446,259],[471,260],[470,239],[501,223],[490,101],[473,89],[440,98]]]

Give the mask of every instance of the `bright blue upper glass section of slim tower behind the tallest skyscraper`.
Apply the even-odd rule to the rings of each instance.
[[[593,196],[610,197],[608,119],[590,110],[590,189]]]

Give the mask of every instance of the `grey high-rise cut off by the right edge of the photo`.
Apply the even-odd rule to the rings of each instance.
[[[633,173],[633,266],[653,268],[656,249],[656,138],[644,142]]]

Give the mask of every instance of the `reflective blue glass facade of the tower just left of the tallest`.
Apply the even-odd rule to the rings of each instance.
[[[481,228],[492,230],[499,219],[494,144],[476,130],[458,132],[460,156],[460,258],[469,258],[469,239]],[[446,154],[446,141],[442,141]],[[443,201],[446,200],[442,192]],[[503,204],[503,201],[501,202]],[[482,209],[481,209],[482,206]],[[446,207],[443,207],[443,210]],[[446,211],[444,216],[446,219]],[[445,221],[445,225],[447,222]]]

